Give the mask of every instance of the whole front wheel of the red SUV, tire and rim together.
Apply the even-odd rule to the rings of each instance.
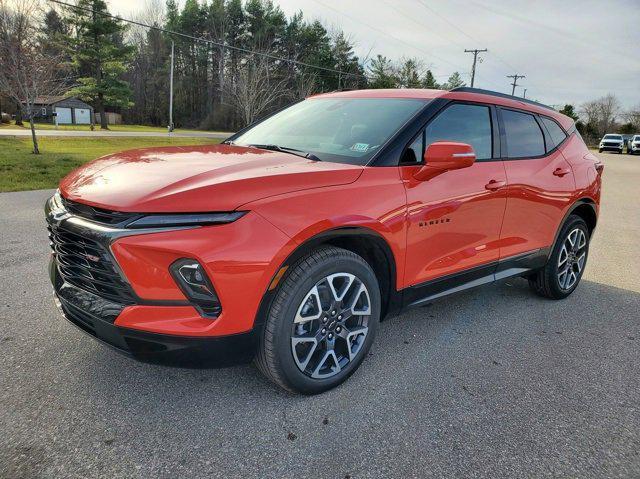
[[[292,392],[331,389],[366,357],[380,311],[371,266],[351,251],[321,247],[291,266],[278,287],[256,365]]]

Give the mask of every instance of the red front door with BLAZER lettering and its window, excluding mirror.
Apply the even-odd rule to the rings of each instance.
[[[492,267],[499,259],[507,178],[494,151],[493,123],[490,107],[454,103],[407,148],[400,166],[408,209],[405,286],[482,265]],[[435,141],[470,144],[476,162],[427,181],[416,180],[413,174],[425,146]]]

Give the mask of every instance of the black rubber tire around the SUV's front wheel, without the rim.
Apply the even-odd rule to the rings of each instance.
[[[303,372],[299,368],[294,359],[294,318],[314,286],[329,275],[343,272],[355,275],[367,289],[371,312],[366,316],[368,332],[353,359],[338,373],[328,378],[312,378],[306,370]],[[255,364],[267,378],[290,392],[318,394],[334,388],[351,376],[367,356],[380,322],[381,304],[378,280],[363,258],[342,248],[320,247],[293,264],[278,286],[267,315]]]

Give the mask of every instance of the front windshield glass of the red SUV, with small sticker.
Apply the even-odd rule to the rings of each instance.
[[[366,165],[426,104],[400,98],[311,98],[240,134],[236,145],[277,145],[322,161]]]

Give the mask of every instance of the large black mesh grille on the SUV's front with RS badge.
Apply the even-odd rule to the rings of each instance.
[[[119,304],[135,303],[129,284],[119,274],[109,251],[76,233],[48,227],[51,249],[62,279]]]

